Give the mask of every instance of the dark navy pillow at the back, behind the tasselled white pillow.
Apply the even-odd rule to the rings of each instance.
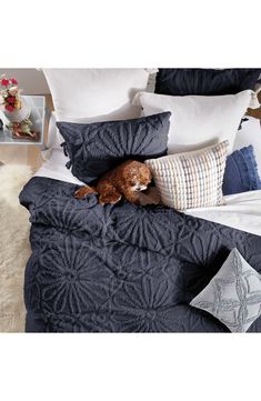
[[[200,68],[164,68],[155,78],[155,93],[185,96],[235,94],[254,89],[261,69],[233,68],[225,70]]]

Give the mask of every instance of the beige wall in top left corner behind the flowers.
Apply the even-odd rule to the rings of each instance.
[[[2,73],[6,73],[8,77],[17,78],[19,88],[23,89],[23,94],[50,93],[42,71],[33,68],[0,68],[0,76]]]

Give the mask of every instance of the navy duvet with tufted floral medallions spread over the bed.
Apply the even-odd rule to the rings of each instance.
[[[32,223],[27,331],[228,331],[189,302],[234,247],[261,273],[261,237],[164,207],[76,200],[77,188],[38,177],[20,194]]]

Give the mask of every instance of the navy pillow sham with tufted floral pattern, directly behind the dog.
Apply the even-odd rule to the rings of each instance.
[[[128,159],[144,161],[167,154],[170,112],[90,124],[58,122],[72,173],[90,184]]]

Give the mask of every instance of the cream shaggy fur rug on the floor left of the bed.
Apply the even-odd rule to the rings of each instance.
[[[0,166],[0,332],[24,331],[23,280],[31,254],[30,223],[18,196],[31,176],[29,166]]]

